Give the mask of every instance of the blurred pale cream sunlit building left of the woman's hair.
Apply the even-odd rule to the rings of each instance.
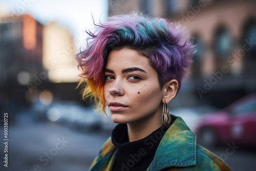
[[[55,23],[43,28],[42,61],[52,82],[77,82],[79,71],[74,54],[73,37],[69,31]]]

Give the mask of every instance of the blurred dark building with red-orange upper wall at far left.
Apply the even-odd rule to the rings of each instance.
[[[26,105],[28,84],[42,70],[42,25],[30,15],[0,18],[1,104]],[[47,75],[44,75],[47,78]],[[39,80],[35,81],[39,84]],[[28,87],[27,87],[28,85]],[[29,97],[29,96],[28,96]],[[31,96],[30,96],[31,97]],[[7,105],[5,105],[7,107]]]

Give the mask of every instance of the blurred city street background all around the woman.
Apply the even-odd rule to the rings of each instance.
[[[232,171],[255,170],[255,9],[254,0],[0,0],[0,170],[89,169],[116,124],[82,100],[75,54],[95,25],[134,11],[193,37],[197,53],[170,113]]]

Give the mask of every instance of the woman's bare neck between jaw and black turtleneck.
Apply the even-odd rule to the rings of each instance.
[[[129,135],[129,141],[137,141],[146,136],[150,135],[152,132],[161,127],[161,109],[157,110],[157,113],[144,118],[143,120],[127,123],[127,130]]]

